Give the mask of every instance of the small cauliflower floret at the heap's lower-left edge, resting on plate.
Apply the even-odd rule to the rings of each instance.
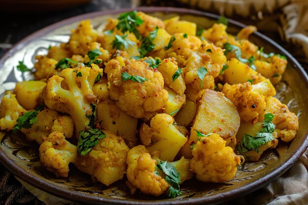
[[[68,164],[74,163],[77,147],[65,140],[62,132],[53,132],[39,147],[40,162],[56,176],[68,176]]]

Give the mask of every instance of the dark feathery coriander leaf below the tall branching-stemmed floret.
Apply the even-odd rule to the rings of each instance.
[[[104,139],[106,137],[99,129],[89,129],[88,131],[79,132],[77,150],[81,155],[86,155],[92,147],[98,144],[99,139]]]

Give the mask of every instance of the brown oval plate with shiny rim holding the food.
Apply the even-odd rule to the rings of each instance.
[[[36,55],[47,54],[49,45],[67,42],[69,31],[75,29],[80,20],[91,19],[95,29],[102,30],[108,18],[117,18],[120,13],[131,9],[102,11],[73,17],[41,29],[17,43],[0,59],[0,94],[13,89],[16,82],[32,79],[31,74],[16,69],[18,60],[31,67]],[[140,7],[136,10],[167,19],[180,15],[181,19],[210,28],[219,16],[183,8]],[[237,33],[245,25],[229,20],[228,32]],[[182,195],[174,199],[154,198],[143,194],[130,195],[125,179],[109,187],[92,182],[91,177],[70,167],[67,179],[56,178],[39,164],[38,145],[27,142],[21,135],[2,133],[0,135],[0,160],[14,175],[31,185],[67,200],[91,204],[112,205],[187,205],[216,204],[243,196],[282,175],[294,164],[308,147],[308,76],[301,65],[277,43],[255,32],[250,39],[267,53],[274,52],[287,57],[288,65],[282,82],[277,85],[277,98],[287,104],[299,117],[299,130],[290,144],[282,144],[276,150],[266,151],[258,162],[241,165],[234,179],[226,183],[203,183],[195,179],[181,185]]]

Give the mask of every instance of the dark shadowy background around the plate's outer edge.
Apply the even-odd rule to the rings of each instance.
[[[62,9],[60,7],[60,10],[58,11],[45,12],[35,10],[35,12],[31,12],[30,9],[23,9],[18,7],[18,5],[16,5],[16,7],[12,6],[12,8],[9,10],[3,9],[3,7],[1,9],[0,4],[0,57],[3,56],[7,50],[9,50],[15,43],[22,40],[24,37],[63,19],[94,11],[132,7],[138,4],[142,6],[188,7],[185,4],[177,3],[177,1],[172,0],[141,0],[139,3],[137,0],[93,0],[90,3],[69,9]],[[295,58],[303,65],[306,70],[308,69],[308,63],[306,62],[307,58],[304,55],[304,52],[302,52],[301,48],[283,42],[279,37],[277,29],[266,31],[265,29],[262,29],[262,25],[260,25],[260,21],[258,20],[245,20],[236,16],[231,18],[246,25],[256,25],[260,32],[266,34],[278,42],[288,52],[295,56]],[[274,14],[271,16],[271,18],[277,20],[277,24],[279,24],[278,15]],[[26,190],[21,185],[21,183],[17,181],[15,177],[0,164],[0,205],[4,204],[44,205],[44,203],[40,202],[28,190]]]

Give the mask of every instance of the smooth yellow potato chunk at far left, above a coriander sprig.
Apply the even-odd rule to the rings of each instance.
[[[16,99],[26,110],[35,109],[43,102],[42,92],[46,83],[43,81],[23,81],[16,84]]]

